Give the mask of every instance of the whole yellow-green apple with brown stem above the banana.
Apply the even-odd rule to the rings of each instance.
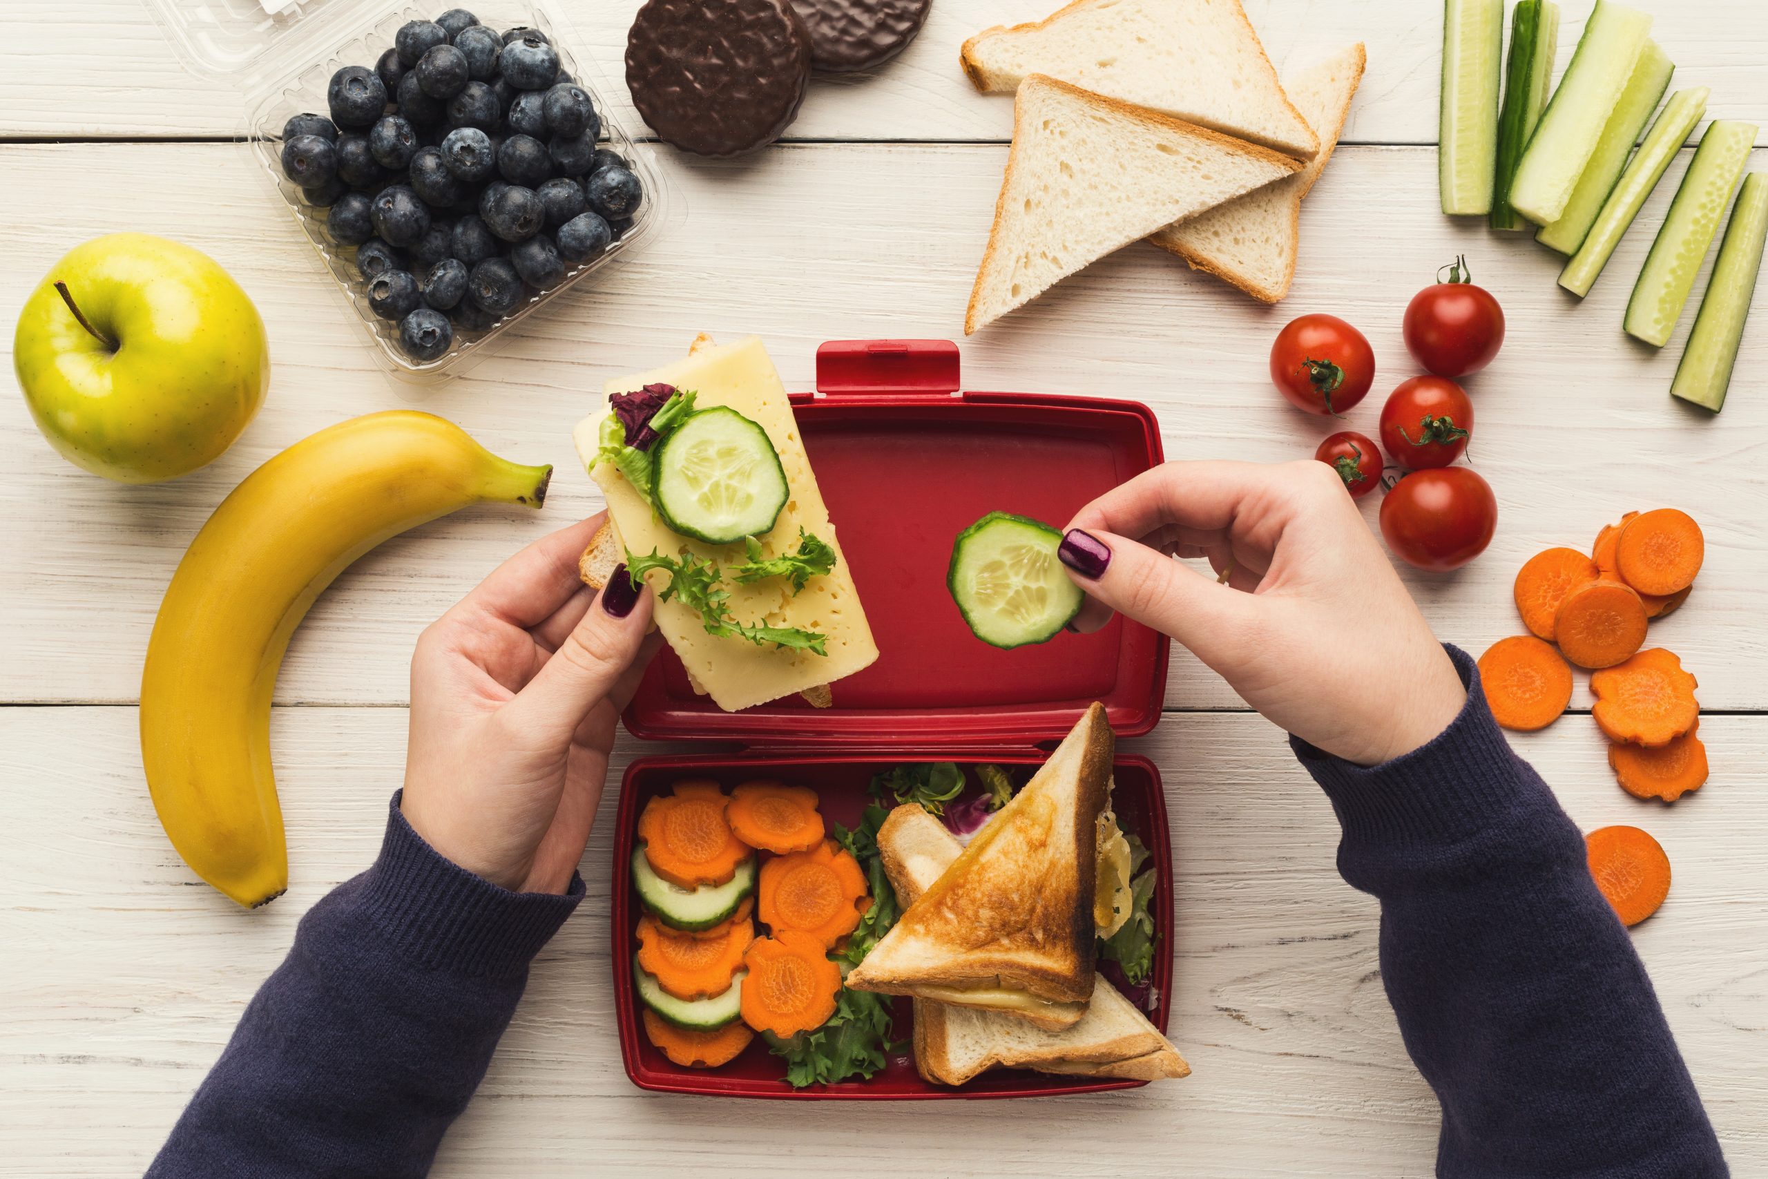
[[[177,479],[233,444],[271,385],[251,299],[214,258],[149,233],[71,249],[25,300],[12,368],[65,460]]]

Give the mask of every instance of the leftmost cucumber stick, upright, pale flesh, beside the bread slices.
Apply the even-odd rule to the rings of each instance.
[[[1443,113],[1437,168],[1443,212],[1492,212],[1497,163],[1497,78],[1505,51],[1505,0],[1443,2]]]

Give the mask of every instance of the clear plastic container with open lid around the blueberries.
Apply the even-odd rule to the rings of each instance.
[[[635,141],[617,118],[624,99],[608,85],[601,65],[580,48],[580,39],[546,0],[484,0],[481,4],[389,5],[377,0],[145,0],[166,39],[177,48],[187,69],[223,80],[240,88],[244,126],[240,138],[253,150],[263,177],[274,189],[265,200],[281,202],[306,233],[325,270],[332,276],[350,315],[362,329],[384,366],[400,380],[417,385],[446,380],[465,371],[490,354],[509,327],[541,309],[592,272],[617,265],[645,247],[670,224],[675,194],[649,145]],[[644,196],[631,224],[601,256],[566,267],[564,281],[536,292],[527,288],[522,302],[484,331],[454,327],[449,350],[433,361],[415,361],[400,345],[400,323],[370,309],[368,281],[357,272],[355,247],[339,246],[327,233],[327,207],[309,205],[302,191],[281,168],[283,124],[297,113],[327,113],[325,88],[345,65],[375,67],[392,48],[394,34],[414,19],[435,19],[449,9],[467,9],[479,23],[502,34],[529,27],[546,34],[559,49],[560,71],[589,92],[601,117],[599,148],[619,152],[638,177]],[[274,331],[274,325],[272,325]]]

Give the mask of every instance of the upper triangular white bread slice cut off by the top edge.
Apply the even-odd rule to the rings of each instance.
[[[983,92],[1048,74],[1298,159],[1319,148],[1239,0],[1075,0],[1031,25],[985,28],[958,58]]]

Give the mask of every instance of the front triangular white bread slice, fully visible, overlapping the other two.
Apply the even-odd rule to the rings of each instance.
[[[1301,163],[1033,74],[964,315],[969,336],[1098,258],[1301,170]]]

